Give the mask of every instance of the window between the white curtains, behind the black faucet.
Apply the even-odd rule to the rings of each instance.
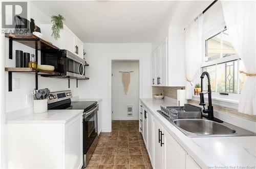
[[[212,92],[239,94],[245,79],[240,70],[244,70],[244,65],[233,49],[228,30],[205,40],[205,62],[201,71],[209,73]],[[206,78],[203,83],[203,90],[207,90]]]

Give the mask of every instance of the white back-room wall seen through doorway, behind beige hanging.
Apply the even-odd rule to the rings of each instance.
[[[133,71],[127,94],[124,93],[119,71]],[[112,120],[139,119],[139,62],[113,61],[112,74]],[[133,116],[127,116],[127,105],[133,106]]]

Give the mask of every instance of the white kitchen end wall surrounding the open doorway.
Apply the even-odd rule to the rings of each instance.
[[[102,132],[111,131],[111,59],[140,60],[140,97],[152,98],[150,43],[84,43],[87,81],[79,81],[81,98],[102,98]]]

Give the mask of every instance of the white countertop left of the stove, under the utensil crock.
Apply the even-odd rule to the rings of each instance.
[[[48,110],[46,113],[24,113],[30,109],[20,110],[20,114],[7,118],[7,124],[65,124],[74,117],[82,114],[83,110]],[[17,114],[18,111],[16,111]]]

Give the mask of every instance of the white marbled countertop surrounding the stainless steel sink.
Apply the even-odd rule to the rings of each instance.
[[[208,166],[224,166],[225,168],[231,168],[230,166],[246,168],[249,166],[255,168],[256,136],[187,137],[157,112],[160,109],[160,105],[176,106],[176,100],[156,100],[152,98],[140,100],[202,168],[208,168]]]

